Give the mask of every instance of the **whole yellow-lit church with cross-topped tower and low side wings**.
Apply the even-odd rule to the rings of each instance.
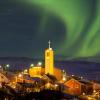
[[[57,78],[57,80],[61,80],[62,71],[54,66],[54,51],[51,48],[51,42],[48,42],[49,47],[45,50],[45,66],[42,67],[40,65],[33,66],[29,68],[30,77],[40,77],[43,75],[49,74],[53,75]]]

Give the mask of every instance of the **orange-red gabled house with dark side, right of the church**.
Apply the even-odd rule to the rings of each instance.
[[[64,85],[68,87],[68,93],[72,95],[92,94],[93,92],[93,84],[87,81],[72,78],[65,82]]]

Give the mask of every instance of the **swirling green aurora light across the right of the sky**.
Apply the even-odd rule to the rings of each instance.
[[[57,54],[88,57],[100,54],[100,0],[22,0],[43,12],[39,34],[45,30],[48,13],[58,16],[67,29]],[[45,34],[41,34],[45,35]]]

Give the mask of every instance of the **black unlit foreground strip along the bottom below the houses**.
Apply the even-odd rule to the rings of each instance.
[[[0,90],[0,100],[81,100],[76,96],[64,94],[60,91],[43,90],[41,92],[16,93]]]

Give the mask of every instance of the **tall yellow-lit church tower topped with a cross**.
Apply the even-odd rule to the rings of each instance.
[[[45,74],[54,74],[54,52],[50,47],[51,42],[49,41],[49,48],[45,50]]]

